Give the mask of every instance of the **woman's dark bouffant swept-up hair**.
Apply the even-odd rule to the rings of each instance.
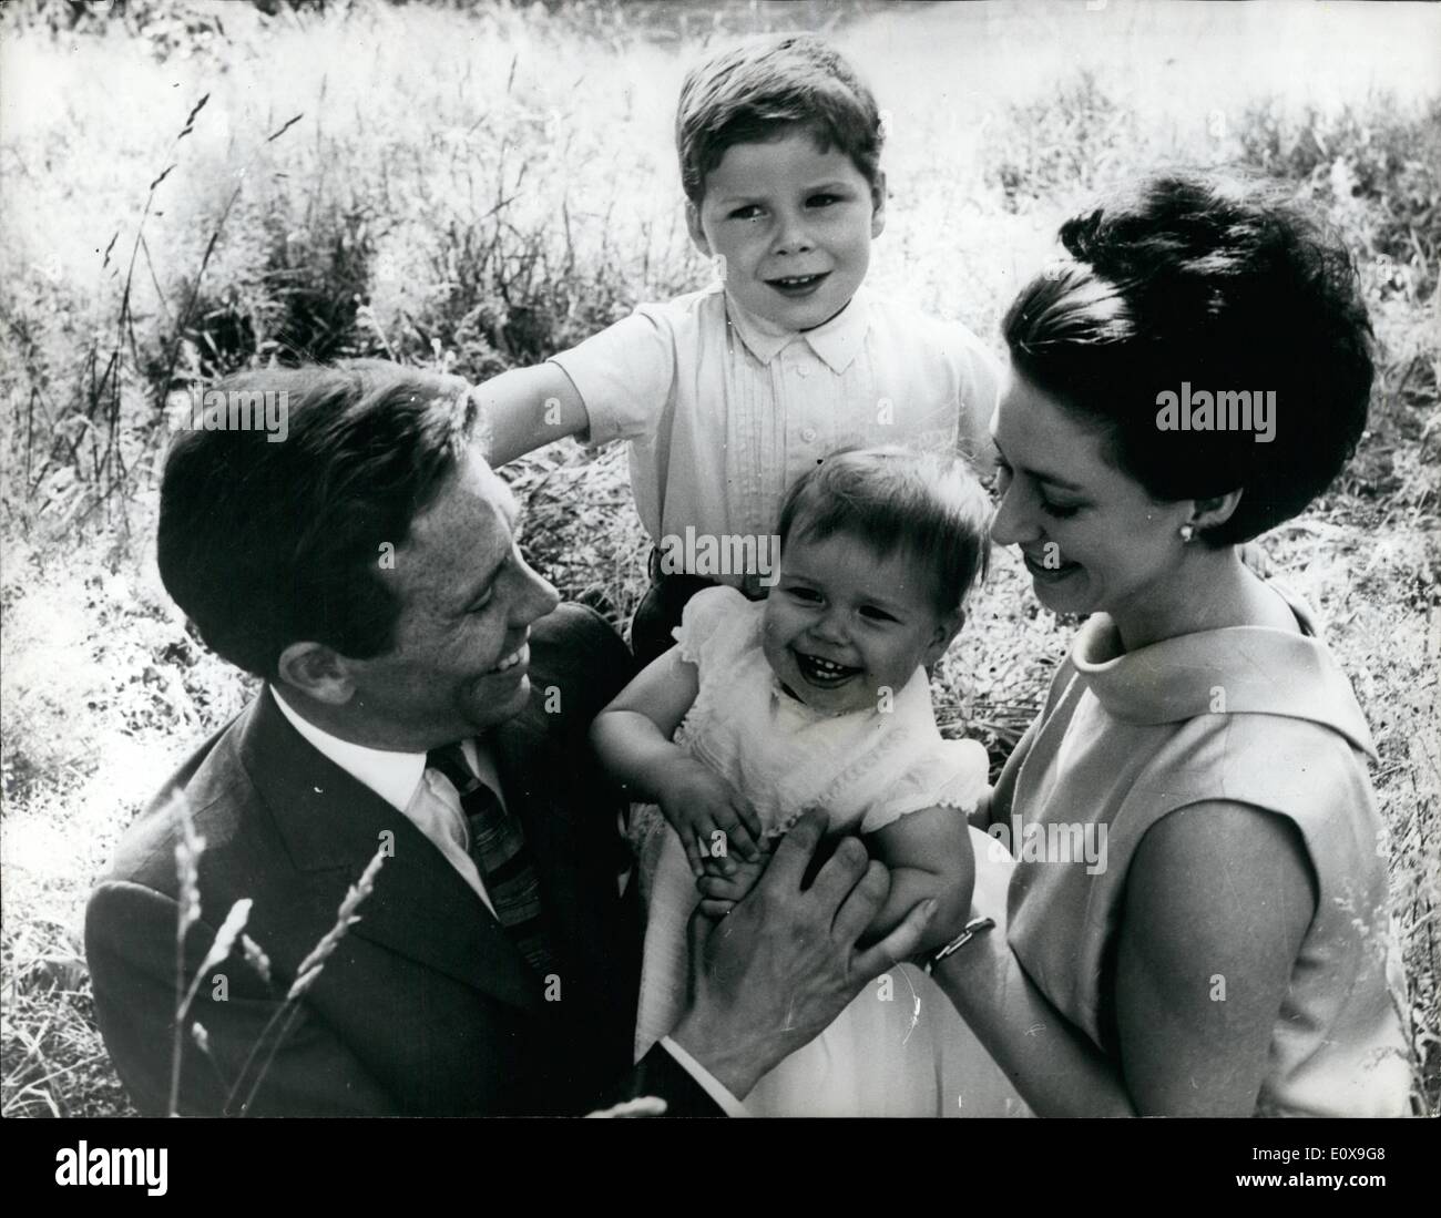
[[[1157,176],[1066,221],[1071,255],[1003,323],[1014,369],[1101,427],[1157,500],[1244,492],[1202,533],[1236,545],[1301,512],[1366,427],[1370,323],[1350,255],[1258,186]],[[1161,430],[1157,396],[1274,392],[1274,437]]]

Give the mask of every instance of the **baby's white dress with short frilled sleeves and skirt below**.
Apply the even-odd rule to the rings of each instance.
[[[764,603],[708,588],[676,639],[700,689],[676,742],[731,781],[778,837],[810,807],[836,829],[872,833],[911,812],[970,812],[986,751],[947,741],[918,669],[889,712],[821,715],[781,690],[761,650]],[[659,809],[634,814],[647,898],[635,1057],[673,1026],[687,976],[686,923],[697,902],[677,835]],[[970,830],[973,848],[989,845]],[[820,1036],[761,1080],[757,1116],[1007,1116],[1026,1108],[944,993],[904,964],[872,982]]]

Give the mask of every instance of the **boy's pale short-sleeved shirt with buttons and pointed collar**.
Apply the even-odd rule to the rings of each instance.
[[[767,536],[787,486],[842,447],[989,451],[996,357],[958,321],[862,287],[804,333],[715,284],[630,316],[553,357],[591,444],[631,441],[631,489],[651,539]],[[739,585],[741,579],[722,577]]]

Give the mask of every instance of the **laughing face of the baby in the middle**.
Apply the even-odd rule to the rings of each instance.
[[[817,711],[878,711],[961,624],[941,615],[931,572],[904,552],[878,555],[847,533],[791,533],[765,601],[764,647],[785,689]]]

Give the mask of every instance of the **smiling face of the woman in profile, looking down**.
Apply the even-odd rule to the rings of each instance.
[[[1046,608],[1144,618],[1174,595],[1190,500],[1151,499],[1105,458],[1099,431],[1014,370],[991,435],[1001,496],[991,538],[1020,546]]]

